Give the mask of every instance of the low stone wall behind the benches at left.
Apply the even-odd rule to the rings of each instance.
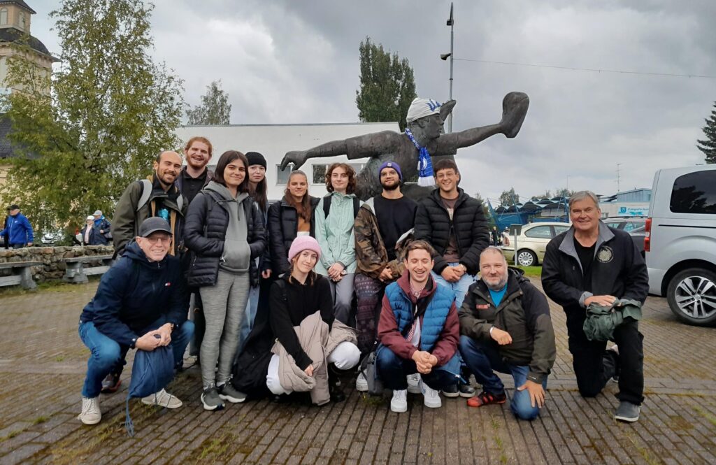
[[[42,267],[32,267],[32,277],[36,282],[48,279],[62,279],[67,264],[62,259],[92,255],[111,255],[112,246],[74,246],[74,247],[24,247],[23,249],[0,249],[0,263],[42,262]],[[102,262],[89,262],[85,267],[98,267]],[[0,269],[0,276],[9,276],[11,269]]]

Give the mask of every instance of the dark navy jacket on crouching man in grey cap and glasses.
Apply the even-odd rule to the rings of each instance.
[[[167,255],[161,262],[150,262],[131,242],[102,275],[95,298],[84,307],[79,321],[94,322],[103,335],[128,347],[162,315],[175,325],[185,322],[186,302],[179,259]]]

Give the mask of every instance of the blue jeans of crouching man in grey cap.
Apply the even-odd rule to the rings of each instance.
[[[160,317],[159,320],[153,322],[146,330],[140,332],[141,335],[156,330],[167,322],[166,317]],[[172,331],[172,342],[169,347],[174,353],[174,363],[178,365],[184,358],[184,350],[189,344],[189,340],[194,334],[194,323],[185,321],[182,325]],[[80,323],[79,338],[82,343],[92,352],[87,360],[87,376],[84,378],[82,386],[82,397],[93,398],[100,395],[102,390],[102,380],[105,376],[112,373],[117,365],[122,364],[129,347],[120,345],[117,341],[102,334],[97,330],[94,322]]]

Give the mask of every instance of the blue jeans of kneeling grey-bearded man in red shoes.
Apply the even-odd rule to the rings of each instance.
[[[515,393],[510,402],[513,413],[523,420],[533,420],[539,415],[539,408],[532,406],[528,390],[517,390],[526,383],[530,368],[527,365],[510,365],[500,356],[497,343],[474,340],[472,337],[460,336],[460,353],[468,365],[470,371],[475,375],[475,380],[483,385],[483,390],[490,394],[501,394],[505,392],[505,385],[495,375],[493,370],[500,373],[508,373],[515,380]],[[542,387],[547,388],[547,377],[542,382]]]

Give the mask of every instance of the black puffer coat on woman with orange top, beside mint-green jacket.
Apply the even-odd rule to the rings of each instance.
[[[316,205],[319,198],[311,197],[311,237],[316,237]],[[289,249],[296,239],[299,229],[299,219],[296,208],[291,206],[286,198],[274,202],[269,207],[269,243],[271,244],[271,269],[274,274],[289,271]]]

